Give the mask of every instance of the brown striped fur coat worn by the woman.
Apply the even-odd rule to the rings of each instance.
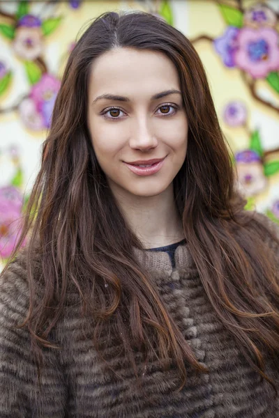
[[[174,269],[163,252],[138,251],[138,256],[209,373],[189,372],[186,386],[176,393],[177,373],[172,368],[163,371],[154,359],[144,370],[143,388],[137,389],[126,357],[115,359],[112,353],[119,347],[107,345],[104,332],[100,345],[111,365],[121,370],[122,378],[116,378],[98,360],[73,293],[52,334],[61,348],[44,350],[39,387],[29,332],[14,327],[27,315],[29,305],[22,251],[0,284],[0,417],[279,418],[278,397],[247,364],[216,318],[187,245],[176,249]],[[278,379],[278,371],[269,364],[266,371]]]

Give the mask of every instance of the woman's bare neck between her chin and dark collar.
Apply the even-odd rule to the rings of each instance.
[[[172,185],[151,197],[135,196],[123,189],[113,192],[126,222],[144,248],[163,247],[185,238]]]

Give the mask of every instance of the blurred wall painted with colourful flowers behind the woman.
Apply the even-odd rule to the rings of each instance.
[[[54,101],[80,29],[107,10],[145,10],[190,38],[211,84],[237,185],[279,223],[279,1],[0,0],[0,259],[10,255]]]

